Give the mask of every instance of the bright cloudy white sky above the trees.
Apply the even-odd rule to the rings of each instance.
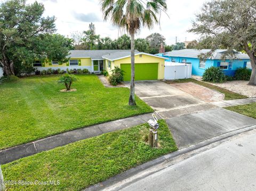
[[[28,0],[33,3],[35,0]],[[99,0],[37,0],[44,4],[43,16],[55,16],[57,32],[69,36],[72,32],[89,29],[89,24],[94,23],[96,34],[101,37],[109,36],[115,39],[124,34],[114,27],[110,21],[103,21]],[[206,0],[166,0],[167,11],[161,14],[160,26],[153,29],[142,28],[135,38],[146,38],[148,35],[158,32],[166,40],[166,44],[198,39],[199,36],[187,32],[191,28],[191,21],[195,14],[199,13]]]

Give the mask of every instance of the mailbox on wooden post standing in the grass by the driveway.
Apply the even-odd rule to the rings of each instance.
[[[152,116],[153,116],[153,120],[150,119],[148,121],[148,124],[150,126],[148,144],[151,147],[157,147],[157,140],[158,140],[157,129],[159,128],[159,124],[157,122],[156,115],[153,113]]]

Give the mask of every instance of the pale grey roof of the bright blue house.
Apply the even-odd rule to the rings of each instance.
[[[163,53],[164,56],[174,56],[174,57],[192,57],[198,58],[198,55],[201,53],[210,52],[211,49],[181,49],[179,51],[171,51]],[[209,59],[212,60],[221,60],[221,55],[226,52],[227,49],[217,49]],[[247,54],[243,54],[241,52],[237,52],[236,54],[237,59],[250,59]]]

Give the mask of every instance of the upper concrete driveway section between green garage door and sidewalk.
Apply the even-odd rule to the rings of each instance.
[[[130,87],[130,82],[125,82]],[[136,81],[135,93],[163,119],[217,108],[163,81]]]

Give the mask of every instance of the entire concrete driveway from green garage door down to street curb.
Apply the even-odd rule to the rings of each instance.
[[[130,87],[130,83],[125,86]],[[179,148],[256,124],[253,118],[222,109],[207,102],[209,99],[205,102],[162,81],[137,81],[135,93],[166,120]]]

